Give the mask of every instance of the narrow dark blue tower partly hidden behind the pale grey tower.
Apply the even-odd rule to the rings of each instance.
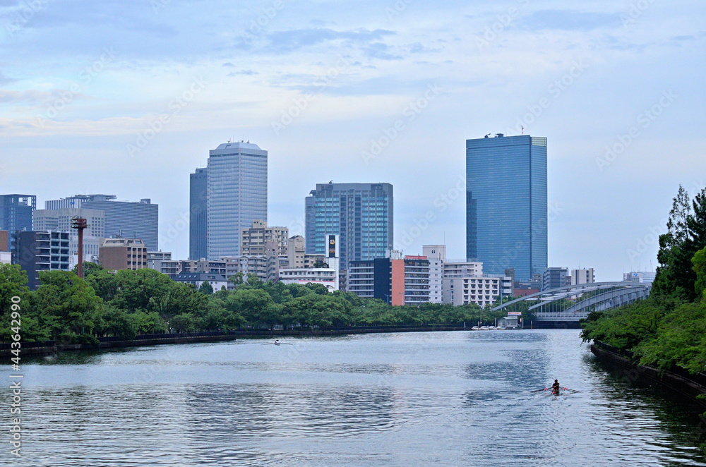
[[[189,259],[208,255],[208,169],[189,175]]]

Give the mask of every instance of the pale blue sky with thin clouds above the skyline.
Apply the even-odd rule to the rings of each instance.
[[[186,258],[189,174],[246,140],[268,224],[303,234],[316,183],[388,182],[395,247],[456,259],[465,140],[524,131],[549,266],[621,280],[706,183],[704,24],[695,0],[0,0],[0,193],[151,198]]]

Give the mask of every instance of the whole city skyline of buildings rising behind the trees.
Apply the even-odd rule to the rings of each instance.
[[[214,290],[254,274],[262,281],[321,284],[390,305],[481,307],[503,297],[589,284],[593,269],[547,267],[547,142],[530,135],[466,141],[466,257],[445,245],[421,254],[393,248],[390,183],[316,183],[303,197],[304,236],[268,225],[268,152],[251,142],[210,150],[189,176],[189,259],[160,250],[159,207],[150,198],[0,195],[0,262],[38,272],[78,263],[73,219],[85,218],[83,261],[105,269],[151,268]],[[652,274],[652,276],[650,276]],[[652,281],[654,273],[626,274]]]

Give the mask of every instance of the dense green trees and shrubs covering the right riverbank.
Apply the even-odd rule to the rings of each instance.
[[[582,339],[597,344],[599,358],[629,362],[681,394],[706,399],[706,188],[690,199],[679,187],[657,261],[650,297],[590,313]]]

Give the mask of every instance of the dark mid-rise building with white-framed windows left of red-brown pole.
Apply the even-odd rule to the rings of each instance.
[[[30,289],[40,286],[41,271],[70,270],[68,233],[17,231],[14,237],[13,262],[27,272]]]

